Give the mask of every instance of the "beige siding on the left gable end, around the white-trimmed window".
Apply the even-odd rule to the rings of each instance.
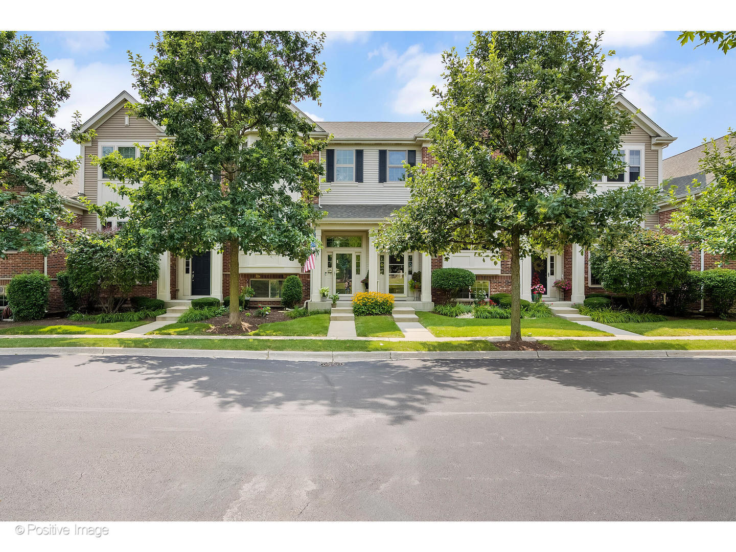
[[[102,124],[94,127],[97,131],[96,138],[85,146],[84,159],[84,193],[87,198],[96,203],[97,188],[99,185],[99,168],[91,162],[90,155],[99,155],[100,142],[138,142],[140,144],[150,144],[152,141],[161,138],[163,134],[158,130],[155,124],[145,118],[130,116],[128,126],[125,126],[125,115],[127,109],[124,103],[121,103],[113,115],[107,118]],[[90,214],[82,217],[82,227],[91,230],[97,227],[97,216]]]

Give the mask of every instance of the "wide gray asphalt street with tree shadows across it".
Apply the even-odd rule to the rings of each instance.
[[[0,520],[735,520],[735,407],[729,358],[0,355]]]

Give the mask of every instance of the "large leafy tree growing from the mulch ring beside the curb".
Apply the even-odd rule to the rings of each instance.
[[[408,205],[377,247],[447,255],[509,250],[511,339],[521,340],[520,257],[573,241],[626,236],[654,208],[641,185],[597,192],[619,174],[631,118],[615,98],[629,77],[604,77],[601,35],[476,32],[466,57],[442,56],[446,91],[427,113],[432,167],[408,168]]]

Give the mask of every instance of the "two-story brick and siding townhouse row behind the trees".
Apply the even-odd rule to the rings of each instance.
[[[96,138],[82,144],[84,158],[79,178],[79,194],[98,204],[112,200],[124,202],[105,183],[107,175],[93,166],[90,155],[103,156],[118,151],[121,155],[138,155],[135,144],[149,144],[166,136],[166,130],[153,121],[137,118],[127,112],[126,102],[135,99],[125,91],[102,107],[82,125],[82,131],[94,128]],[[614,179],[601,179],[601,189],[629,185],[643,177],[647,186],[662,183],[662,150],[676,138],[662,130],[654,121],[637,110],[623,96],[617,99],[620,109],[632,114],[634,129],[623,137],[621,155],[627,168]],[[305,116],[306,117],[306,116]],[[328,149],[314,154],[325,163],[323,194],[316,209],[325,217],[316,227],[316,236],[322,242],[316,267],[303,272],[297,261],[273,255],[241,255],[238,280],[241,288],[255,290],[252,302],[277,305],[283,280],[292,274],[302,280],[302,300],[318,302],[319,290],[330,289],[345,300],[358,291],[381,291],[394,294],[397,301],[411,303],[414,308],[428,310],[438,300],[439,290],[431,289],[432,269],[453,266],[469,269],[477,280],[474,289],[489,293],[510,291],[511,274],[508,259],[494,263],[491,255],[475,255],[465,251],[449,258],[431,258],[420,251],[406,251],[397,255],[376,250],[369,231],[378,227],[392,211],[406,204],[408,188],[403,183],[409,165],[436,161],[428,151],[427,121],[313,121],[314,135],[333,135]],[[111,220],[111,227],[123,221]],[[644,224],[654,227],[659,222],[655,214]],[[99,228],[95,215],[82,213],[82,227]],[[223,290],[229,289],[229,255],[211,250],[191,258],[177,258],[168,252],[160,255],[158,282],[148,290],[150,295],[163,300],[187,300],[213,296],[222,299]],[[410,289],[409,280],[414,272],[422,272],[421,288]],[[584,294],[600,289],[591,277],[587,255],[576,244],[562,252],[548,251],[540,257],[528,257],[521,263],[523,298],[531,300],[531,282],[538,279],[548,289],[548,297],[557,299],[553,280],[572,280],[572,291],[565,300],[580,302]],[[365,280],[365,283],[364,283]],[[551,288],[551,289],[550,289]]]

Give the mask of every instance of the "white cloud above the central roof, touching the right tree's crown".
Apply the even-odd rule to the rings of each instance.
[[[418,115],[423,109],[436,105],[432,85],[442,85],[442,52],[424,52],[420,44],[409,46],[398,54],[388,46],[370,52],[368,58],[383,57],[383,65],[374,74],[393,72],[396,82],[403,86],[394,93],[392,109],[401,115]]]

